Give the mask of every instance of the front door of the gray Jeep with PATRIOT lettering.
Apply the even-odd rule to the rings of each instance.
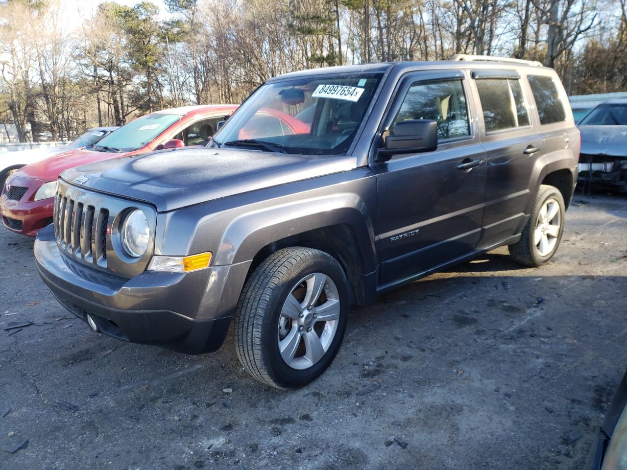
[[[377,174],[380,285],[391,285],[472,253],[480,237],[485,150],[461,70],[421,71],[403,78],[382,123],[381,145],[394,123],[438,121],[438,149],[372,164]],[[472,98],[470,98],[472,100]],[[471,168],[459,168],[469,164]]]

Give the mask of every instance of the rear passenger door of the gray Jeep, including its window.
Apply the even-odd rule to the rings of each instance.
[[[535,160],[543,153],[526,83],[515,70],[472,72],[487,153],[485,211],[477,249],[489,249],[522,231]]]

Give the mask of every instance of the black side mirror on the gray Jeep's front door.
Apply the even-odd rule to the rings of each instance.
[[[410,119],[394,124],[386,137],[386,147],[379,149],[377,162],[385,162],[396,154],[418,154],[438,149],[438,122]]]

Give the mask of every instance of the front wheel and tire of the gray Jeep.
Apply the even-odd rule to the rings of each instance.
[[[348,312],[349,287],[335,258],[312,248],[280,249],[257,266],[241,292],[233,328],[238,359],[271,387],[307,385],[337,355]]]

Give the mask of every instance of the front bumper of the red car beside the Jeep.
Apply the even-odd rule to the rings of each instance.
[[[45,181],[40,179],[12,177],[12,186],[28,188],[19,201],[8,199],[3,189],[3,195],[0,197],[0,214],[4,226],[10,231],[34,237],[43,227],[52,223],[55,198],[33,201],[35,193],[44,183]]]

